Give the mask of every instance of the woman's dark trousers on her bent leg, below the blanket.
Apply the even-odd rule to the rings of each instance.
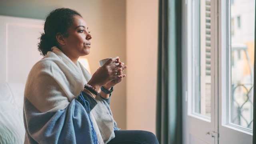
[[[115,130],[115,138],[108,144],[159,144],[152,132],[143,130]]]

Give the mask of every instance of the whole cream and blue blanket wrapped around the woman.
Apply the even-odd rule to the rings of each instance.
[[[114,119],[100,96],[96,106],[86,109],[75,98],[90,80],[89,72],[74,64],[56,47],[37,62],[24,91],[25,142],[29,144],[94,144],[109,142],[114,135]]]

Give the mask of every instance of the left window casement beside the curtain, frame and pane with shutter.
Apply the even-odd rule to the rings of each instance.
[[[187,83],[184,86],[186,94],[186,140],[184,143],[213,144],[214,132],[214,85],[212,82],[212,2],[214,0],[188,0],[187,1],[187,48],[184,52],[186,68],[184,77]],[[213,73],[212,73],[213,72]],[[185,76],[186,75],[186,76]],[[185,80],[184,79],[184,80]],[[213,107],[212,107],[213,106]],[[204,130],[198,127],[203,127]],[[208,134],[208,135],[206,135]],[[217,140],[217,139],[216,139]]]

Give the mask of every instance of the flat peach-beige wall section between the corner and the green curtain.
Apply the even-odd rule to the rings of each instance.
[[[126,1],[127,129],[156,132],[158,0]]]

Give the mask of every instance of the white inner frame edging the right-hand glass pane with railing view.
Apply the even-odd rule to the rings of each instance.
[[[230,103],[231,103],[231,70],[230,70],[230,62],[231,62],[231,27],[228,27],[231,25],[231,17],[230,17],[230,6],[229,4],[230,0],[221,0],[220,4],[222,6],[221,9],[221,16],[220,16],[220,29],[219,29],[219,86],[220,86],[220,110],[221,110],[221,116],[220,116],[220,122],[221,125],[226,128],[231,128],[233,130],[250,134],[252,135],[252,130],[249,128],[245,128],[242,126],[238,126],[235,124],[232,124],[230,122],[230,113],[229,110],[231,109]],[[220,6],[221,7],[221,6]],[[230,35],[229,35],[230,34]]]

